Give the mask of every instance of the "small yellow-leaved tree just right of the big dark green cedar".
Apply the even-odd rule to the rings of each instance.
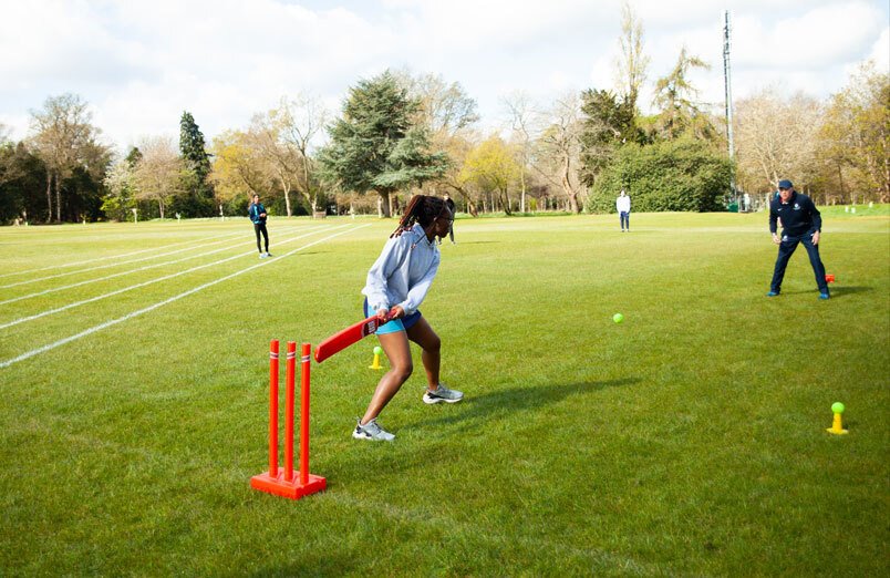
[[[489,136],[469,152],[460,171],[464,183],[474,183],[486,193],[497,194],[504,211],[513,214],[509,188],[519,178],[522,167],[510,147],[497,135]]]

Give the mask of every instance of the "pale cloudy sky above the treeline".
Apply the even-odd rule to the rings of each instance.
[[[691,80],[723,110],[723,24],[732,92],[824,100],[859,64],[890,71],[888,0],[629,0],[651,59],[640,105],[682,47],[711,65]],[[350,86],[384,70],[459,83],[483,131],[504,100],[542,109],[586,89],[615,89],[621,0],[0,0],[0,123],[29,135],[31,111],[80,95],[102,138],[125,154],[148,136],[178,138],[190,112],[208,144],[284,95],[339,114]]]

